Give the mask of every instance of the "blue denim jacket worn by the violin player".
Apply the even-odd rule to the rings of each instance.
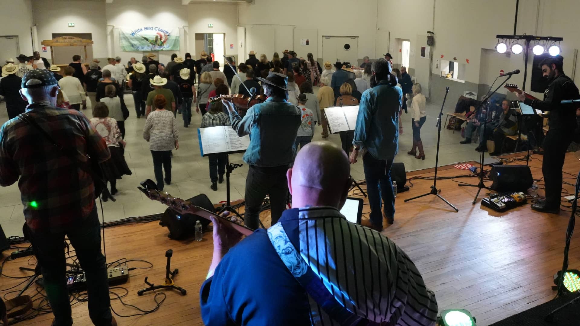
[[[244,162],[256,166],[291,164],[301,117],[297,106],[277,97],[252,106],[243,119],[236,112],[230,113],[231,127],[238,136],[250,135]]]

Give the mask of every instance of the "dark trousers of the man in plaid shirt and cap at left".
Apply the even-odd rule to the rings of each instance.
[[[107,267],[101,252],[100,230],[96,204],[89,216],[75,219],[61,231],[31,230],[30,241],[42,269],[44,288],[55,315],[54,325],[73,325],[65,275],[64,236],[70,240],[85,271],[90,320],[95,325],[111,325],[113,317],[109,309]]]

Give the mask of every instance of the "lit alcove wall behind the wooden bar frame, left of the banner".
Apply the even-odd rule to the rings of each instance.
[[[104,1],[34,0],[32,15],[38,28],[39,43],[52,39],[52,33],[91,33],[93,56],[107,56]],[[75,23],[75,27],[68,27],[68,23]],[[50,57],[50,54],[46,57]]]

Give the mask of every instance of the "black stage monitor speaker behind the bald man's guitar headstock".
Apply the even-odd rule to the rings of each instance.
[[[187,201],[195,206],[207,209],[210,212],[216,212],[212,202],[205,194],[191,197]],[[206,231],[208,229],[208,224],[211,223],[211,221],[194,214],[181,214],[168,208],[165,210],[163,216],[161,216],[159,224],[167,227],[169,230],[169,238],[183,239],[195,234],[195,223],[198,220],[201,223],[202,230]]]

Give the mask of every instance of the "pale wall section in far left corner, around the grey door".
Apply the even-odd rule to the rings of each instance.
[[[20,3],[3,3],[0,10],[0,35],[18,35],[20,53],[32,55],[32,37],[30,27],[32,23],[32,0],[23,0]],[[8,58],[0,58],[3,63]],[[16,58],[13,58],[16,59]]]

